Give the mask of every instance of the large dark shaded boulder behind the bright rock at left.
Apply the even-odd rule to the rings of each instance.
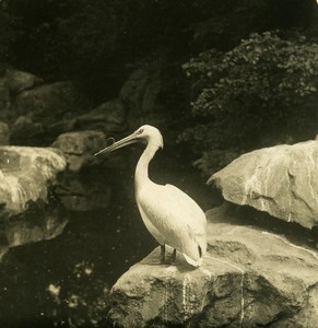
[[[11,127],[14,144],[46,145],[73,130],[75,117],[86,106],[72,82],[55,82],[25,90],[14,97]]]

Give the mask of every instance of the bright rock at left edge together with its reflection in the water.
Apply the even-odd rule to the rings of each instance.
[[[10,247],[62,232],[67,220],[51,207],[51,187],[64,167],[57,150],[0,147],[0,261]]]

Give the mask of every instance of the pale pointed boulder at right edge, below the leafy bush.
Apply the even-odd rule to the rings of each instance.
[[[227,201],[311,229],[318,225],[318,141],[244,154],[208,184]]]

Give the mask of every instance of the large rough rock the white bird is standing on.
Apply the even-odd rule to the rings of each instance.
[[[316,327],[318,254],[286,238],[208,212],[208,256],[191,268],[160,249],[111,289],[109,319],[119,327]]]

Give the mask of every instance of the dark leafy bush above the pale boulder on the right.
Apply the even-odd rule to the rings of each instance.
[[[205,51],[184,69],[198,125],[181,138],[195,140],[201,151],[249,150],[263,140],[302,140],[317,132],[318,45],[305,36],[251,34],[233,50]]]

